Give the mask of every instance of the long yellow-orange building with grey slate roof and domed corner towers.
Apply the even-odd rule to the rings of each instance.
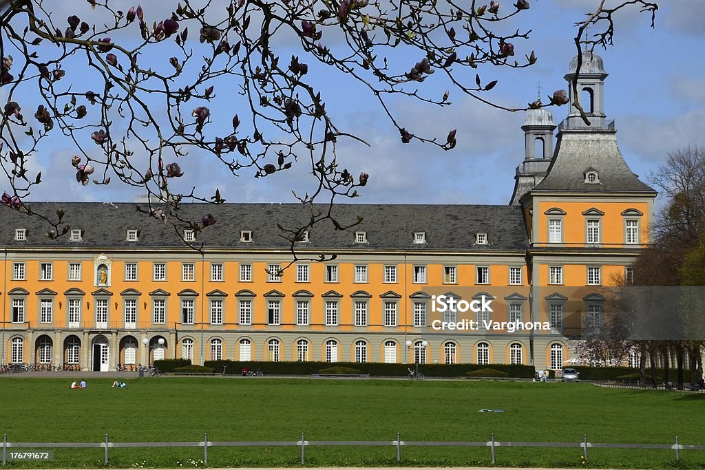
[[[566,78],[575,73],[574,60]],[[187,204],[193,218],[217,222],[175,233],[134,204],[35,203],[66,211],[71,230],[57,240],[4,209],[0,362],[96,371],[185,357],[572,364],[570,342],[601,314],[601,287],[628,280],[648,244],[656,197],[603,113],[606,76],[601,58],[584,56],[591,125],[569,114],[555,152],[551,113],[527,113],[511,204],[340,204],[338,218],[362,223],[315,226],[293,262],[276,225],[306,223],[295,204]],[[491,307],[441,312],[441,295]],[[464,321],[476,328],[450,329]]]

